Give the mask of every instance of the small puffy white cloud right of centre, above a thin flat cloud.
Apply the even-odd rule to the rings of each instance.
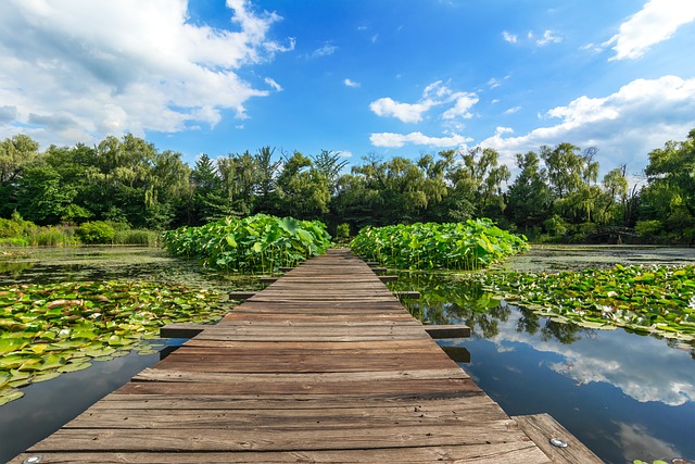
[[[441,115],[443,120],[470,118],[470,109],[478,101],[476,93],[455,91],[437,80],[422,90],[422,97],[416,103],[401,103],[386,97],[372,101],[369,109],[378,116],[395,117],[404,123],[419,123],[425,113],[440,105],[447,106]]]

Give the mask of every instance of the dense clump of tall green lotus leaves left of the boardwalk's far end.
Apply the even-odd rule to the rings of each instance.
[[[170,254],[197,258],[210,267],[274,273],[324,253],[331,241],[318,221],[256,214],[170,230],[164,234],[164,243]]]

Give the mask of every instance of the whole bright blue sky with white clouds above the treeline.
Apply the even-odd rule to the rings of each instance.
[[[0,137],[132,133],[193,164],[263,146],[595,146],[605,173],[695,127],[692,0],[3,0]]]

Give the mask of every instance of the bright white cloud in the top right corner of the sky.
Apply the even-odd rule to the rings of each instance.
[[[693,21],[693,0],[649,0],[642,10],[621,24],[618,34],[604,42],[603,47],[615,45],[612,49],[616,55],[610,60],[634,60]]]

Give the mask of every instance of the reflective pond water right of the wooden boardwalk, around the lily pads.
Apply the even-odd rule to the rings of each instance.
[[[539,271],[692,264],[694,249],[546,247],[504,267]],[[467,324],[459,363],[509,415],[548,413],[607,463],[695,463],[695,347],[622,329],[561,324],[507,304],[466,275],[400,273],[424,323]]]

